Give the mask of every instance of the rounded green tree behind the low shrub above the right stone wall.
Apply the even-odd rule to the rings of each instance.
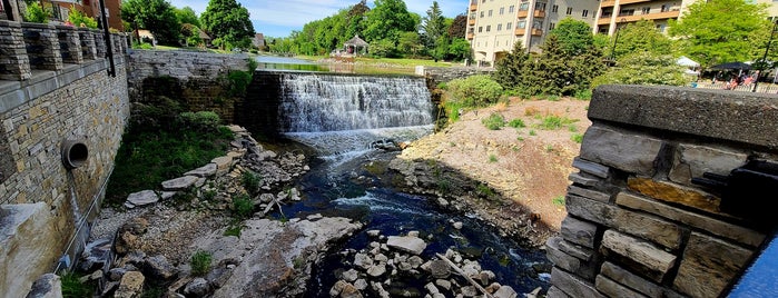
[[[613,42],[608,47],[612,49]],[[617,60],[626,54],[643,51],[669,54],[673,52],[673,43],[667,36],[657,31],[653,22],[649,20],[643,19],[619,29],[619,40],[613,51]]]

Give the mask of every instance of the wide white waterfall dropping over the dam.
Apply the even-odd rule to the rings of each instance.
[[[284,132],[323,132],[429,126],[423,78],[284,73],[279,125]]]

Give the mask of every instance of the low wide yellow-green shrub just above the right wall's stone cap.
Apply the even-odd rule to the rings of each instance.
[[[683,86],[690,81],[683,70],[670,54],[633,52],[620,59],[618,67],[595,78],[592,88],[607,83]]]

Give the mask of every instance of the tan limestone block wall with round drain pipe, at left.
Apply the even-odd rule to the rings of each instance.
[[[126,39],[111,36],[109,76],[105,54],[83,54],[99,52],[95,30],[0,21],[0,297],[24,297],[72,264],[77,225],[97,210],[129,117]],[[82,166],[66,168],[65,140],[86,146]]]

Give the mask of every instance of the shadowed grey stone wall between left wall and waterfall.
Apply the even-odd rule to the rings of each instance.
[[[128,57],[132,102],[165,96],[185,103],[189,110],[215,111],[225,121],[234,120],[235,105],[240,99],[228,96],[226,77],[233,70],[248,70],[246,53],[131,50]]]

